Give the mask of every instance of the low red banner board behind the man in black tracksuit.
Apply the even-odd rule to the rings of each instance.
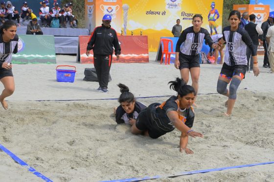
[[[86,55],[89,39],[90,36],[79,36],[77,61],[81,64],[93,63],[93,51],[91,50],[89,57]],[[147,36],[118,36],[118,40],[121,55],[118,61],[113,55],[113,62],[149,62]]]

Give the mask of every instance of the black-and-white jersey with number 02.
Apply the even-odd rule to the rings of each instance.
[[[185,55],[195,56],[199,54],[203,47],[204,39],[211,47],[213,42],[210,34],[205,28],[201,28],[200,32],[195,33],[193,26],[183,30],[176,44],[176,52],[182,52]]]

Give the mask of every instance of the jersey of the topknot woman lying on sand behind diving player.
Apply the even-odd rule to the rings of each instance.
[[[128,114],[123,109],[122,105],[119,105],[119,107],[117,107],[116,109],[116,114],[115,114],[115,119],[117,124],[120,124],[120,123],[129,124],[130,118],[136,120],[141,110],[145,108],[146,106],[144,104],[142,104],[141,102],[135,101],[134,111]]]

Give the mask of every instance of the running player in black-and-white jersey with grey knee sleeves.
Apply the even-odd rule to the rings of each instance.
[[[218,48],[227,42],[225,53],[225,63],[223,64],[218,83],[217,91],[219,94],[228,97],[226,105],[228,107],[226,116],[231,116],[234,103],[236,101],[237,89],[244,79],[247,69],[246,46],[251,50],[253,58],[253,72],[255,76],[259,75],[258,60],[256,51],[248,32],[239,27],[241,14],[239,11],[231,11],[229,14],[230,26],[223,30],[223,38],[218,42]],[[230,82],[231,81],[231,82]],[[228,83],[229,90],[227,89]]]

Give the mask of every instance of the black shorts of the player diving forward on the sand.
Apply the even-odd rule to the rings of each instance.
[[[148,131],[149,137],[152,139],[157,139],[160,136],[171,132],[174,130],[174,127],[171,125],[166,125],[166,131],[163,131],[155,122],[155,120],[164,120],[165,117],[156,118],[159,116],[159,113],[156,113],[156,107],[159,106],[160,103],[152,103],[147,108],[143,109],[137,119],[136,119],[136,127],[142,131]],[[168,122],[168,121],[167,121]]]

